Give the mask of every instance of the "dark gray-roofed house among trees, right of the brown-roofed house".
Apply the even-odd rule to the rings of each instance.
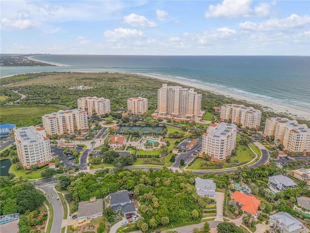
[[[124,216],[137,213],[135,203],[130,201],[127,190],[110,193],[110,206],[114,213],[123,211]]]

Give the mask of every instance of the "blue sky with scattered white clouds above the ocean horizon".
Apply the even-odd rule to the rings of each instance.
[[[1,53],[310,55],[310,1],[0,1]]]

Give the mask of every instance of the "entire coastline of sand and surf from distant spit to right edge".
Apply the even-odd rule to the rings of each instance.
[[[34,60],[34,61],[48,63],[47,61],[39,60],[37,57],[33,58],[32,56],[30,56],[29,58],[31,60]],[[78,67],[68,66],[66,64],[60,64],[60,63],[49,62],[48,64],[51,64],[51,65],[57,66],[57,67],[61,67],[64,69],[69,69],[69,70],[70,70],[70,68],[72,68],[72,71],[74,71],[74,72],[92,72],[92,73],[97,73],[97,72],[115,73],[115,72],[117,72],[117,73],[131,73],[131,74],[136,74],[136,75],[137,74],[143,75],[143,76],[159,79],[162,81],[180,83],[180,85],[186,85],[186,86],[191,86],[191,87],[202,89],[202,90],[207,90],[209,92],[212,92],[212,93],[215,93],[218,95],[229,96],[229,97],[231,97],[233,99],[237,99],[237,100],[244,100],[245,102],[248,102],[249,104],[251,102],[255,103],[255,104],[259,104],[266,111],[281,113],[281,114],[290,116],[292,118],[297,118],[297,119],[302,118],[302,119],[306,119],[306,120],[310,119],[310,110],[307,111],[305,109],[299,108],[298,106],[291,106],[291,105],[289,106],[289,105],[281,104],[279,102],[262,100],[262,99],[259,99],[260,98],[259,96],[258,96],[258,98],[254,98],[254,97],[250,97],[247,95],[233,93],[227,89],[223,90],[223,89],[214,87],[213,85],[195,82],[196,80],[186,80],[186,79],[182,79],[181,77],[180,78],[172,77],[172,76],[164,75],[164,74],[160,74],[160,73],[158,73],[158,74],[156,74],[156,73],[154,73],[154,74],[141,73],[141,72],[135,72],[134,70],[127,72],[127,71],[124,71],[121,69],[118,70],[118,68],[100,68],[100,67],[98,67],[98,68],[95,68],[95,67],[93,67],[93,68],[91,68],[91,67],[79,67],[78,68]]]

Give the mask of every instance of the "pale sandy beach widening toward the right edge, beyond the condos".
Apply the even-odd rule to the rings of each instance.
[[[152,77],[155,79],[159,79],[162,81],[169,81],[169,82],[174,82],[174,83],[180,83],[180,84],[186,85],[186,86],[192,86],[194,88],[210,91],[210,92],[218,94],[218,95],[229,96],[229,97],[231,97],[233,99],[237,99],[237,100],[245,100],[248,103],[256,103],[256,104],[259,104],[262,107],[264,107],[265,110],[275,112],[275,113],[281,113],[283,115],[290,116],[294,119],[310,120],[310,111],[305,111],[305,110],[297,109],[297,108],[294,108],[291,106],[285,106],[285,105],[280,105],[278,103],[272,103],[272,102],[267,102],[264,100],[250,98],[248,96],[243,96],[240,94],[231,93],[231,92],[220,90],[220,89],[210,87],[210,86],[204,85],[204,84],[191,83],[191,82],[184,81],[184,80],[170,79],[170,78],[166,78],[166,77],[162,77],[162,76],[149,75],[149,74],[147,74],[146,76],[149,76],[149,77]]]

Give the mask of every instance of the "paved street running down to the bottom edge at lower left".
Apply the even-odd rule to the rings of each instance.
[[[57,200],[58,194],[54,191],[54,186],[57,182],[54,178],[50,178],[44,181],[35,182],[35,186],[45,191],[47,200],[51,202],[54,209],[54,220],[51,233],[60,233],[62,228],[63,208],[61,200]]]

